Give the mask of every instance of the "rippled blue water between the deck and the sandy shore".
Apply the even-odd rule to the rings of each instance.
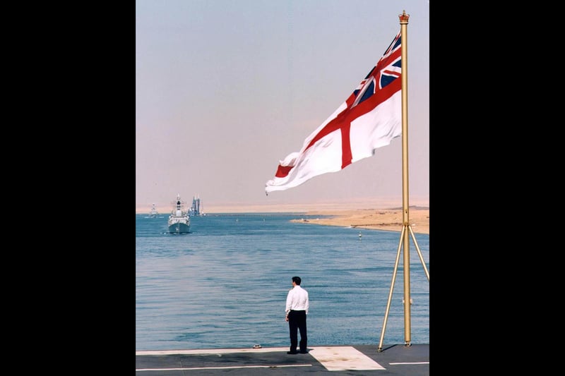
[[[304,214],[136,214],[136,351],[289,346],[291,277],[309,291],[309,346],[379,344],[400,232],[292,223]],[[399,229],[400,230],[400,229]],[[429,270],[429,235],[416,234]],[[403,255],[384,344],[404,344]],[[410,240],[412,344],[429,344],[429,281]]]

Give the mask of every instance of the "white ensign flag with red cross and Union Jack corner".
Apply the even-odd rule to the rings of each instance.
[[[280,161],[266,193],[287,190],[371,157],[402,134],[400,32],[367,77],[341,106],[311,133],[302,150]]]

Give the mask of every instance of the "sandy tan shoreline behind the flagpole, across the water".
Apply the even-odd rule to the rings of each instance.
[[[330,215],[329,218],[292,219],[304,224],[323,224],[327,226],[351,226],[357,229],[402,231],[402,208],[367,209],[342,211],[310,211],[308,215]],[[416,234],[429,234],[429,207],[412,207],[408,210],[412,231]]]

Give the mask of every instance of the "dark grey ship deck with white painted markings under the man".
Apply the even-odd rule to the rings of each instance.
[[[429,375],[429,344],[208,348],[136,351],[136,376],[185,375]]]

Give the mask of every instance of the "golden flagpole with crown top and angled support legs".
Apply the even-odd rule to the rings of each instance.
[[[379,341],[378,352],[383,351],[383,340],[384,332],[386,329],[386,322],[388,320],[388,312],[391,309],[391,300],[394,290],[394,282],[396,280],[396,272],[398,272],[398,262],[400,260],[400,249],[404,249],[404,346],[412,346],[410,337],[410,305],[412,304],[412,298],[410,298],[410,236],[412,236],[412,241],[414,241],[418,255],[420,256],[420,261],[424,266],[424,272],[429,281],[429,272],[424,262],[424,257],[422,257],[422,252],[420,252],[420,247],[416,242],[416,237],[412,227],[410,226],[410,213],[409,213],[409,202],[408,202],[408,18],[410,15],[402,11],[402,14],[398,15],[400,19],[400,51],[401,51],[401,79],[402,79],[402,232],[400,233],[400,241],[398,242],[398,250],[396,253],[396,262],[394,265],[393,278],[391,281],[391,289],[388,292],[388,303],[386,304],[386,313],[384,315],[383,329],[381,330],[381,340]],[[408,231],[406,231],[408,229]],[[410,236],[409,236],[410,233]],[[404,246],[402,247],[404,243]]]

